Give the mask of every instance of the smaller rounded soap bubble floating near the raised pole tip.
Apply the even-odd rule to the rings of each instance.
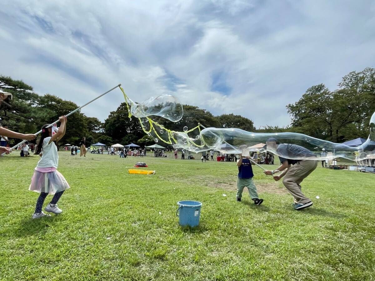
[[[130,100],[130,105],[130,113],[138,118],[157,115],[172,122],[177,122],[181,120],[183,115],[183,106],[177,97],[168,94],[150,97],[141,103]]]

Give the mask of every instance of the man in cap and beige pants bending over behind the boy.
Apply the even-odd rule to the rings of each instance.
[[[266,170],[266,175],[282,172],[279,176],[274,176],[275,181],[284,177],[282,183],[294,197],[294,209],[301,210],[312,206],[311,200],[302,193],[301,182],[311,174],[318,166],[317,160],[303,160],[314,158],[315,155],[308,149],[294,144],[279,144],[275,138],[267,140],[267,150],[276,151],[277,155],[293,155],[293,158],[300,157],[301,160],[287,159],[279,156],[281,166],[276,170]]]

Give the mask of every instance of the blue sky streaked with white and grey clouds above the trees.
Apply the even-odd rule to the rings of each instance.
[[[375,67],[375,1],[32,1],[0,10],[0,75],[83,105],[122,84],[257,128],[320,83]],[[104,121],[119,89],[82,111]]]

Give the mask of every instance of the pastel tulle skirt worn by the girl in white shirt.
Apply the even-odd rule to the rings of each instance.
[[[55,194],[70,188],[64,176],[57,170],[53,172],[39,172],[34,170],[34,175],[31,178],[31,184],[28,190],[35,192],[45,192],[48,194]]]

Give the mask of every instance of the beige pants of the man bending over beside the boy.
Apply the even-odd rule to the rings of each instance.
[[[282,183],[294,197],[294,203],[305,204],[311,200],[301,191],[301,182],[318,166],[318,161],[301,160],[288,168]]]

